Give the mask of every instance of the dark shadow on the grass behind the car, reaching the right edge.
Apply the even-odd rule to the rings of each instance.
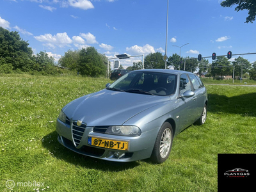
[[[256,115],[256,93],[247,93],[234,97],[225,95],[208,94],[208,111],[212,113],[231,113],[243,116]]]

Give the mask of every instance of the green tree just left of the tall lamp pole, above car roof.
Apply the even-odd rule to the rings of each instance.
[[[144,68],[164,68],[165,63],[161,52],[150,53],[145,57]]]

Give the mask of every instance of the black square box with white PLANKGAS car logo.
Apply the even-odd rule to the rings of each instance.
[[[241,171],[240,174],[237,174],[239,172],[228,172],[227,174],[227,171],[234,169],[246,170],[248,172]],[[255,186],[256,154],[218,154],[219,192],[239,191],[240,189],[242,191],[256,191]]]

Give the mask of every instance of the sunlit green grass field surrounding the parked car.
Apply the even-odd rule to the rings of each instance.
[[[256,88],[207,84],[206,124],[181,132],[163,164],[111,163],[62,147],[60,109],[106,83],[0,74],[0,191],[217,191],[218,153],[256,152]]]

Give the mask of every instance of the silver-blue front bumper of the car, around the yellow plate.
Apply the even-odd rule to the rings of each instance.
[[[58,141],[64,147],[83,154],[84,156],[95,157],[108,161],[129,162],[140,159],[147,159],[151,156],[159,127],[142,132],[140,136],[116,136],[111,134],[102,134],[93,132],[93,127],[86,127],[79,145],[74,144],[71,126],[57,119],[56,131],[58,132]],[[95,147],[88,144],[88,138],[102,138],[104,140],[127,141],[129,147],[127,150],[118,150],[113,148]],[[90,140],[90,139],[89,139]],[[90,141],[89,141],[90,143]]]

